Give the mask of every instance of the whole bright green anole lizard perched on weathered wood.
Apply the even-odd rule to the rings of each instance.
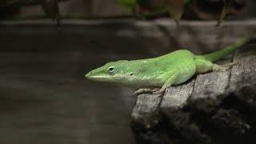
[[[248,39],[240,40],[210,54],[195,55],[189,50],[176,50],[157,58],[108,62],[98,69],[91,70],[86,74],[86,78],[143,88],[137,90],[135,94],[146,92],[161,94],[166,87],[182,84],[194,74],[222,70],[223,66],[213,62],[226,57],[248,41]],[[155,87],[161,87],[161,89],[155,89]]]

